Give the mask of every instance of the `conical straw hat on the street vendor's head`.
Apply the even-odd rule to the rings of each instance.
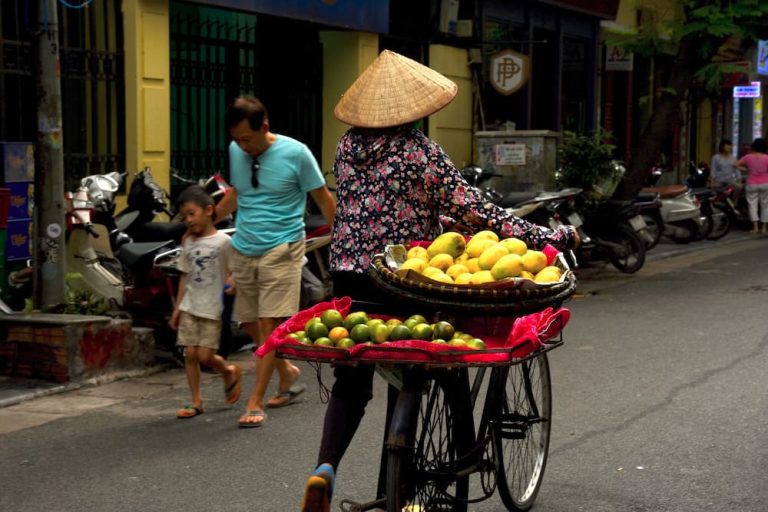
[[[434,114],[458,86],[423,64],[384,50],[342,95],[336,118],[360,128],[386,128]]]

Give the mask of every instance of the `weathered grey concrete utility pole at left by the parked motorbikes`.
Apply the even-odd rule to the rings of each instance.
[[[38,5],[35,308],[64,300],[64,152],[61,133],[59,22],[56,0]]]

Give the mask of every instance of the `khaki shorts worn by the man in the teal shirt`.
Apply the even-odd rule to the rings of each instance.
[[[232,318],[258,322],[284,318],[299,311],[304,240],[280,244],[261,256],[232,250],[232,277],[237,293]]]

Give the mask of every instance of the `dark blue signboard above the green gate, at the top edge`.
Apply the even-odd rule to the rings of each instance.
[[[389,32],[389,0],[192,0],[368,32]]]

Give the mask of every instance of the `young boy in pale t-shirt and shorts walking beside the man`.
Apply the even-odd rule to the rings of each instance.
[[[200,393],[200,363],[224,377],[227,402],[240,398],[240,368],[227,365],[216,355],[221,337],[222,293],[229,266],[229,236],[213,225],[213,198],[202,187],[192,185],[179,197],[179,212],[188,227],[182,243],[179,293],[171,316],[171,327],[178,331],[179,346],[185,347],[184,367],[192,391],[192,404],[178,410],[180,419],[203,413]]]

